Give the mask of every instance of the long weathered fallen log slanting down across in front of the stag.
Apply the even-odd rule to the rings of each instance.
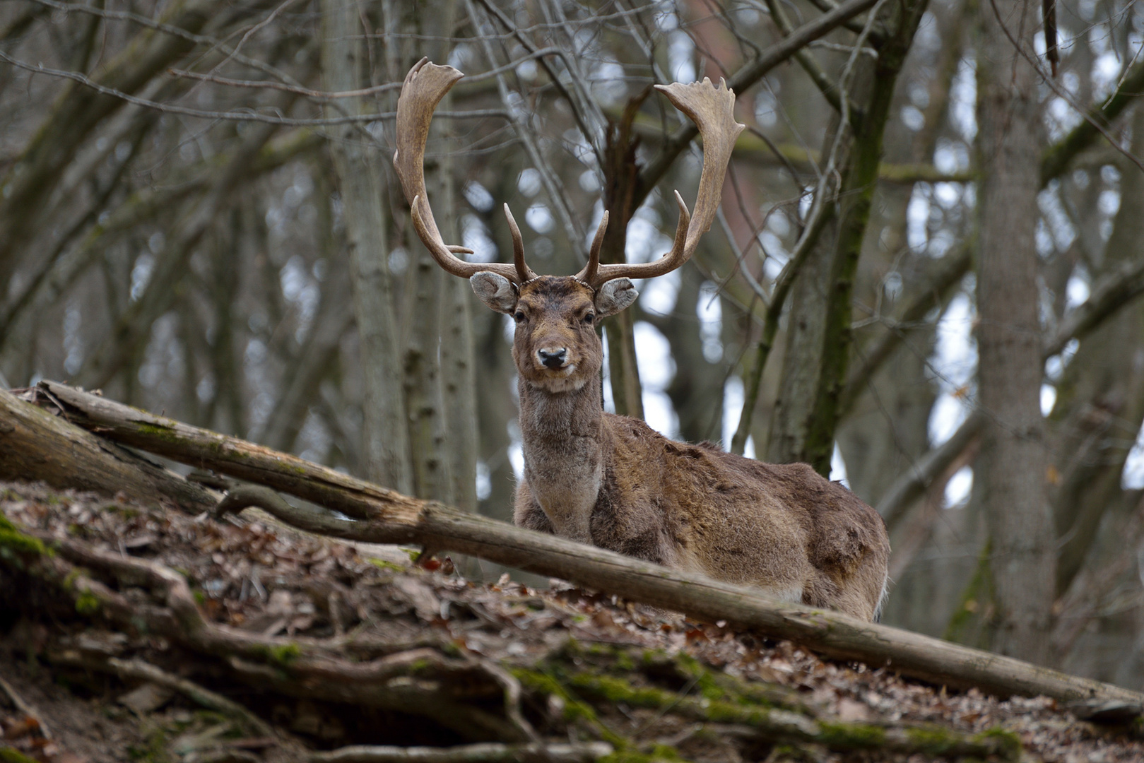
[[[420,543],[563,578],[689,617],[725,620],[791,639],[823,655],[859,660],[952,688],[1001,697],[1058,701],[1109,700],[1144,714],[1144,694],[991,654],[960,644],[865,622],[839,612],[774,602],[749,588],[677,572],[599,548],[402,495],[296,456],[190,427],[56,382],[41,382],[45,405],[62,405],[73,423],[102,437],[255,482],[353,519],[295,508],[272,493],[237,494],[228,504],[260,506],[299,528],[374,543]],[[241,498],[243,500],[238,500]]]

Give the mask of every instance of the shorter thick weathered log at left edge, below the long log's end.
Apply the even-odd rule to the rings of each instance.
[[[42,395],[42,390],[40,395]],[[45,482],[199,514],[217,498],[162,467],[0,390],[0,479]]]

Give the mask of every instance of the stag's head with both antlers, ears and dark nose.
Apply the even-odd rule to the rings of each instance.
[[[734,121],[734,93],[722,80],[715,87],[706,78],[691,85],[656,86],[696,122],[704,138],[704,169],[694,214],[688,210],[676,191],[680,222],[670,252],[649,263],[601,264],[599,249],[609,217],[604,212],[583,270],[575,276],[538,276],[524,261],[521,229],[507,204],[505,216],[513,235],[513,264],[461,260],[456,255],[471,254],[471,249],[445,244],[434,221],[426,198],[426,138],[434,110],[462,77],[464,74],[452,66],[438,66],[428,58],[419,61],[405,75],[397,101],[394,167],[411,206],[413,226],[445,271],[468,278],[482,302],[514,317],[513,357],[522,377],[551,392],[579,389],[599,373],[603,361],[596,321],[623,310],[638,296],[630,279],[653,278],[681,267],[710,228],[731,150],[744,129]]]

